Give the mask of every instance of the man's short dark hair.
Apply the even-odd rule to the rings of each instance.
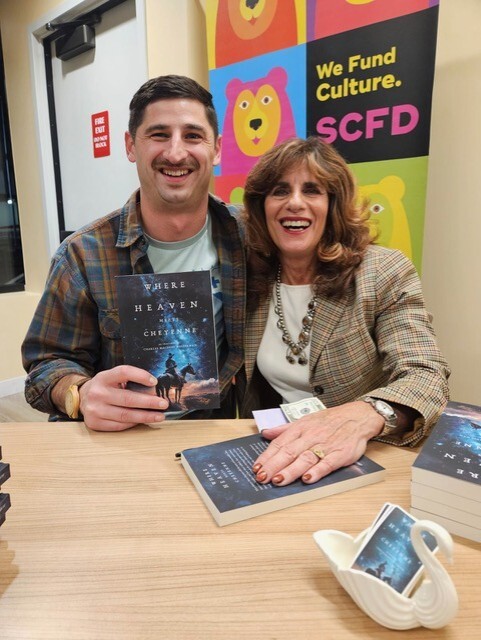
[[[207,121],[214,130],[214,138],[219,135],[217,114],[212,102],[212,94],[198,82],[186,76],[158,76],[147,80],[134,94],[130,101],[129,133],[135,138],[137,129],[142,124],[146,107],[157,100],[175,100],[186,98],[197,100],[204,105]]]

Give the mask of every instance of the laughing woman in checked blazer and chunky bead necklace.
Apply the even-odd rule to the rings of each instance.
[[[249,174],[244,205],[241,415],[310,396],[328,407],[263,431],[258,482],[316,482],[371,438],[416,444],[447,402],[449,368],[413,265],[373,244],[345,161],[318,138],[287,140]]]

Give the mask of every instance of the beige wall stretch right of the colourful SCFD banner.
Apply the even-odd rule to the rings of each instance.
[[[452,368],[451,397],[481,404],[481,2],[440,0],[423,286]]]

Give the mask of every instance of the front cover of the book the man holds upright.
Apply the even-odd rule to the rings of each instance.
[[[169,411],[218,407],[210,272],[118,276],[116,285],[124,362],[157,378]]]

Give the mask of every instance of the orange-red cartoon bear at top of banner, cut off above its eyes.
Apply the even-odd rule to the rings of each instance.
[[[297,44],[295,0],[221,0],[216,16],[215,66]]]

